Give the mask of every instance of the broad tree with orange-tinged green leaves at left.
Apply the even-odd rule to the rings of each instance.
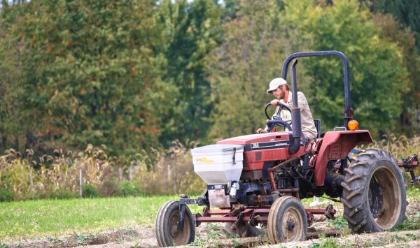
[[[153,103],[171,87],[162,85],[154,51],[154,1],[30,1],[22,8],[12,34],[22,43],[18,110],[37,120],[27,137],[125,154],[157,146],[162,127]]]

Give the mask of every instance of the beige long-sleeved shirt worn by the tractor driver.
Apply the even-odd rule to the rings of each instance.
[[[283,99],[280,99],[280,102],[284,103]],[[289,108],[292,108],[292,92],[289,92],[288,102],[284,104],[288,105]],[[302,92],[297,92],[297,105],[300,108],[300,122],[302,123],[302,133],[308,140],[315,140],[317,131],[314,124],[314,118],[312,118],[308,101]],[[274,115],[278,115],[279,110],[280,107],[277,107]],[[288,110],[281,111],[280,117],[281,119],[283,119],[283,121],[286,121],[289,124],[290,122],[292,122],[292,114]]]

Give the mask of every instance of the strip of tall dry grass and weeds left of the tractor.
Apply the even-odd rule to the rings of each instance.
[[[86,197],[197,194],[204,189],[193,171],[190,151],[181,143],[166,151],[120,158],[92,145],[77,153],[55,150],[38,158],[32,154],[27,150],[22,157],[9,149],[0,157],[0,201],[77,197],[80,170]],[[130,168],[134,170],[128,181]]]

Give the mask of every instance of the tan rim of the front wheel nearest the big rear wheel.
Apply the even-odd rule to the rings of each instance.
[[[302,217],[299,210],[295,207],[290,207],[284,212],[281,226],[283,230],[285,241],[297,241],[301,239],[303,233]]]

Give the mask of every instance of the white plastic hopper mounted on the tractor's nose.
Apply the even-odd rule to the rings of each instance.
[[[207,184],[239,181],[244,167],[243,145],[206,145],[191,150],[194,171]]]

